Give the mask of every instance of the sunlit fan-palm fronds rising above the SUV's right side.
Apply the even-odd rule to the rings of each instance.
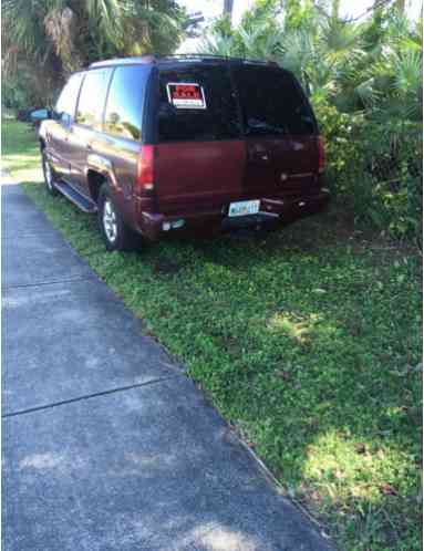
[[[293,0],[288,6],[291,10]],[[421,113],[420,29],[412,30],[397,10],[379,21],[345,22],[337,17],[338,6],[333,0],[331,15],[314,10],[292,27],[287,17],[279,20],[275,12],[259,11],[260,2],[230,34],[216,24],[201,50],[277,61],[297,74],[312,102],[325,100],[341,111],[369,114],[390,104],[392,112],[397,108],[416,119]]]

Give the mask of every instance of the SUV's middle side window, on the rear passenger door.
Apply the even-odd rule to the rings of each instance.
[[[111,69],[97,69],[85,74],[76,110],[79,124],[101,129],[111,73]]]

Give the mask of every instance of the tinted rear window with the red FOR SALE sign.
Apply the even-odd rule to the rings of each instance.
[[[226,139],[240,135],[227,67],[163,70],[159,94],[159,142]]]

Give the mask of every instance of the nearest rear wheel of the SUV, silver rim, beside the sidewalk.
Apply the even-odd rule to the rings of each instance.
[[[100,188],[97,200],[97,219],[100,231],[108,251],[124,251],[135,248],[136,235],[124,222],[112,198],[111,188],[104,183]]]

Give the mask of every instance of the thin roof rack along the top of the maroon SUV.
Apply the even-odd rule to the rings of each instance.
[[[236,63],[252,63],[258,65],[278,65],[275,61],[254,60],[249,58],[231,58],[230,55],[214,55],[209,53],[172,53],[167,55],[146,54],[134,58],[117,58],[113,60],[96,61],[91,63],[90,69],[106,65],[126,65],[134,63],[159,63],[166,60],[174,61],[227,61]]]

